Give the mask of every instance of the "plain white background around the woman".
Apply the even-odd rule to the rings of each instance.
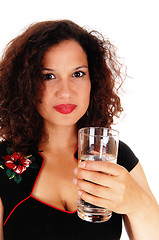
[[[134,151],[159,201],[159,14],[156,0],[5,0],[0,5],[0,53],[28,25],[70,19],[114,43],[128,75],[124,114],[114,128]],[[122,239],[126,240],[125,232]]]

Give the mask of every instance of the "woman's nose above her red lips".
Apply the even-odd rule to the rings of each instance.
[[[72,87],[69,80],[63,79],[59,82],[58,88],[56,91],[56,96],[62,100],[68,100],[72,96]]]

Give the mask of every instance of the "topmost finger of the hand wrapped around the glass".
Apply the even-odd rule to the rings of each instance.
[[[114,176],[119,176],[121,175],[122,171],[124,171],[122,166],[108,161],[79,161],[78,167],[92,171],[103,172]]]

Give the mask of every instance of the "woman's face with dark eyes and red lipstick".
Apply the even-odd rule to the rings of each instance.
[[[74,125],[87,111],[91,82],[87,56],[74,40],[51,47],[43,59],[44,90],[38,112],[45,126]]]

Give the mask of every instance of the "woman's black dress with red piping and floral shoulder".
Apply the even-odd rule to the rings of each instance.
[[[20,157],[0,146],[0,197],[4,206],[5,240],[119,240],[122,215],[113,213],[109,221],[90,223],[77,212],[58,209],[32,196],[43,167],[40,153]],[[77,159],[77,151],[75,153]],[[131,171],[138,159],[131,149],[119,142],[117,163]]]

